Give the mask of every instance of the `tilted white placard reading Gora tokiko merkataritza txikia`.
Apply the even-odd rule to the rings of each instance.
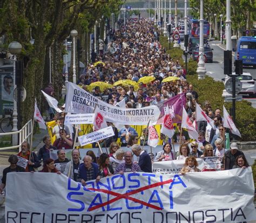
[[[111,136],[114,136],[114,131],[113,128],[110,126],[104,129],[100,129],[98,131],[93,131],[93,133],[79,136],[78,140],[80,145],[83,147],[84,145],[104,140],[104,138],[109,138]]]

